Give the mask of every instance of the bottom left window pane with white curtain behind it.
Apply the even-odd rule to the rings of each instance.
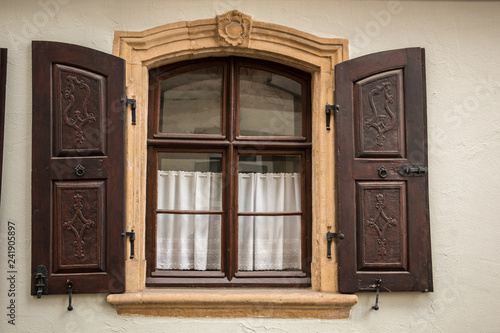
[[[156,267],[220,270],[221,216],[158,214]]]

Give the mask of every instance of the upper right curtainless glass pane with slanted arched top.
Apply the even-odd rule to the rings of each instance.
[[[240,69],[240,135],[302,136],[302,86],[260,69]]]

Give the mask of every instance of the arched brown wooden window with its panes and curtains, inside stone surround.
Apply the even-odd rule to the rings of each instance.
[[[309,286],[310,74],[229,57],[149,77],[147,285]]]

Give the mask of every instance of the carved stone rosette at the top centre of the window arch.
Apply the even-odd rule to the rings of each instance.
[[[252,18],[237,10],[217,16],[217,30],[220,40],[232,46],[248,43]]]

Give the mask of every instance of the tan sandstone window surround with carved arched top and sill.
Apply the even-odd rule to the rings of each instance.
[[[113,54],[126,61],[126,93],[137,101],[137,125],[126,121],[126,229],[136,232],[136,257],[125,263],[126,292],[107,297],[119,314],[182,317],[347,318],[356,295],[337,293],[334,131],[325,105],[333,104],[334,66],[348,59],[346,39],[327,39],[253,21],[236,10],[212,19],[177,22],[141,32],[115,32]],[[241,56],[311,73],[312,264],[308,289],[146,288],[146,166],[148,71],[184,60]],[[130,251],[128,248],[127,251]],[[129,256],[127,255],[127,258]]]

